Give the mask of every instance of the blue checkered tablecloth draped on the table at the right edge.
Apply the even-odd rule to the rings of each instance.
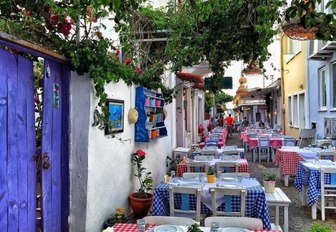
[[[298,164],[294,184],[299,192],[302,191],[303,185],[309,186],[307,192],[308,204],[312,206],[317,202],[321,193],[321,174],[319,169],[311,168],[304,164],[302,161]],[[324,174],[324,180],[326,184],[331,183],[330,173]]]

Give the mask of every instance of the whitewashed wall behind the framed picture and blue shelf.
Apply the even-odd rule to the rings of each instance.
[[[168,78],[169,79],[169,78]],[[169,80],[167,80],[169,83]],[[101,231],[103,222],[117,207],[128,208],[128,195],[136,191],[138,182],[131,175],[130,155],[143,149],[148,155],[144,165],[153,173],[155,184],[166,172],[166,156],[171,154],[175,134],[174,104],[165,107],[168,136],[151,143],[134,142],[134,124],[129,124],[127,113],[135,103],[135,86],[124,82],[109,84],[108,97],[124,100],[124,132],[116,138],[92,127],[93,112],[98,99],[88,78],[72,77],[71,82],[71,161],[70,161],[70,229],[71,231]]]

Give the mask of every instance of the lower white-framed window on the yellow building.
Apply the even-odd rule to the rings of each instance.
[[[306,125],[305,93],[299,92],[288,96],[289,126],[305,128]]]

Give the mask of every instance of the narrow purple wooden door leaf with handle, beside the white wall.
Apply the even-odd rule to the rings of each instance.
[[[42,228],[67,230],[68,217],[68,81],[66,66],[44,62],[42,119]],[[48,167],[49,166],[49,167]]]

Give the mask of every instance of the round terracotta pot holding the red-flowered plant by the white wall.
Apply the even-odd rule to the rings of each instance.
[[[128,197],[133,215],[136,219],[143,218],[149,213],[153,204],[153,195],[148,198],[139,198],[138,193],[131,193]]]

